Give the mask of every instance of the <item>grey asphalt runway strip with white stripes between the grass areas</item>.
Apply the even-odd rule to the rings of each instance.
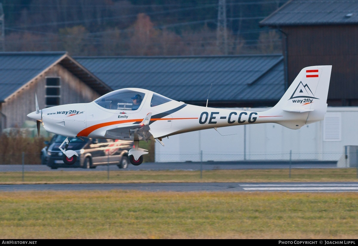
[[[358,192],[358,182],[1,184],[0,192],[138,190],[176,192]]]

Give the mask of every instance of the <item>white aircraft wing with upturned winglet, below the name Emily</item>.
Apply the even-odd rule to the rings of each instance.
[[[121,125],[107,129],[105,137],[108,139],[121,139],[121,140],[148,140],[154,138],[149,132],[149,122],[152,113],[146,115],[140,124]]]

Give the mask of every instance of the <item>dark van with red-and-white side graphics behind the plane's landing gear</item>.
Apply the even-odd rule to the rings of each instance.
[[[63,153],[58,148],[66,137],[55,135],[53,142],[47,149],[47,166],[51,169],[59,167],[96,168],[100,165],[117,165],[127,168],[128,151],[133,148],[134,141],[97,139],[97,138],[69,138],[68,149],[77,152],[77,161],[72,165],[63,163]]]

